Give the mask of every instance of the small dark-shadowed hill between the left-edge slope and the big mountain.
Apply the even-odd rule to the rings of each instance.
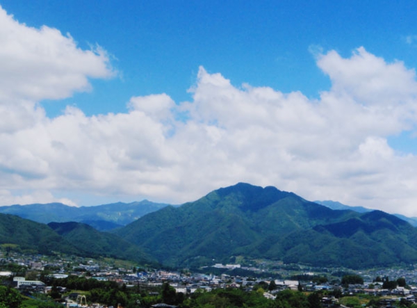
[[[92,257],[113,257],[137,261],[141,264],[156,264],[156,261],[115,234],[99,232],[81,222],[49,222],[48,224],[60,236],[63,236],[78,250]]]

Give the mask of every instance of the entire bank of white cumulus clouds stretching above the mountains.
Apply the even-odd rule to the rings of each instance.
[[[106,51],[82,50],[70,35],[29,28],[4,10],[0,25],[0,204],[75,203],[56,191],[181,203],[247,181],[417,215],[417,159],[387,143],[417,120],[415,72],[400,61],[363,47],[348,58],[318,52],[332,88],[313,100],[236,88],[200,67],[190,102],[133,96],[124,113],[69,106],[49,118],[42,99],[115,74]]]

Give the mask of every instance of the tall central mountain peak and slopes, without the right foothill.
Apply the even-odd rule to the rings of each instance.
[[[149,213],[115,234],[165,264],[199,265],[235,254],[259,257],[265,245],[275,245],[282,236],[358,215],[332,211],[274,187],[240,183],[179,208]]]

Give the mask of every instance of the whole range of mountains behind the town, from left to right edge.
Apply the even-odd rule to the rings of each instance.
[[[152,202],[144,205],[154,209]],[[49,206],[49,211],[68,211],[60,222],[49,225],[0,214],[0,244],[34,252],[53,250],[190,268],[240,258],[348,268],[417,261],[417,229],[409,222],[382,211],[330,209],[271,186],[239,183],[181,206],[158,204],[159,209],[111,233],[99,232],[81,222],[63,222],[75,216],[62,204],[43,206]],[[114,216],[129,212],[125,207],[132,211],[131,217],[136,215],[131,208],[136,209],[137,204],[119,204],[118,212],[117,206],[106,206],[111,214],[91,213],[92,221],[113,217],[112,222],[122,225],[122,220]],[[31,209],[27,213],[32,217],[47,217],[46,213],[36,213],[44,211],[41,204],[27,209]],[[53,214],[58,215],[48,213]],[[88,220],[87,214],[76,217]]]

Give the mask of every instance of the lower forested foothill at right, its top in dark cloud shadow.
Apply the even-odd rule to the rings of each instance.
[[[361,268],[417,261],[417,231],[382,211],[319,225],[284,238],[287,263]]]

